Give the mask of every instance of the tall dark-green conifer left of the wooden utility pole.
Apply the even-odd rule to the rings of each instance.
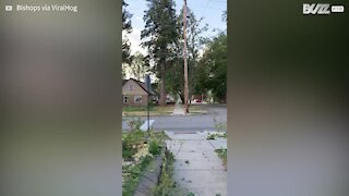
[[[177,16],[173,0],[147,0],[148,10],[143,20],[142,46],[148,50],[147,58],[154,62],[154,71],[160,78],[160,101],[166,106],[166,71],[176,58],[178,41]]]

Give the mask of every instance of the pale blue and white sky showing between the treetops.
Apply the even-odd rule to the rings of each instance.
[[[146,50],[140,47],[141,44],[141,32],[144,28],[143,15],[144,11],[147,10],[146,0],[125,0],[129,4],[127,10],[133,14],[132,22],[132,33],[128,35],[129,41],[131,42],[131,53],[136,51],[146,53]],[[180,10],[183,7],[183,0],[174,0],[177,15],[179,15]],[[191,9],[196,19],[203,17],[202,26],[208,24],[208,32],[204,36],[210,37],[217,33],[213,29],[226,29],[227,24],[221,21],[221,14],[227,10],[227,0],[186,0],[188,8]]]

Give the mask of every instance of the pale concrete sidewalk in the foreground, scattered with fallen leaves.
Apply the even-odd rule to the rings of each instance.
[[[227,172],[206,134],[167,132],[167,148],[174,155],[173,180],[189,193],[204,196],[227,195]],[[216,142],[217,143],[217,142]],[[218,142],[219,143],[219,142]],[[226,146],[225,143],[218,146]]]

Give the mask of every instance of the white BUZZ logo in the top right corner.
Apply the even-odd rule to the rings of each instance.
[[[318,14],[318,15],[328,15],[332,12],[344,12],[344,5],[330,5],[328,3],[303,3],[303,14]]]

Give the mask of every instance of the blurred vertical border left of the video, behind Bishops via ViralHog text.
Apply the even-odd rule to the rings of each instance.
[[[4,12],[19,3],[79,12]],[[0,195],[121,195],[121,14],[0,2]]]

